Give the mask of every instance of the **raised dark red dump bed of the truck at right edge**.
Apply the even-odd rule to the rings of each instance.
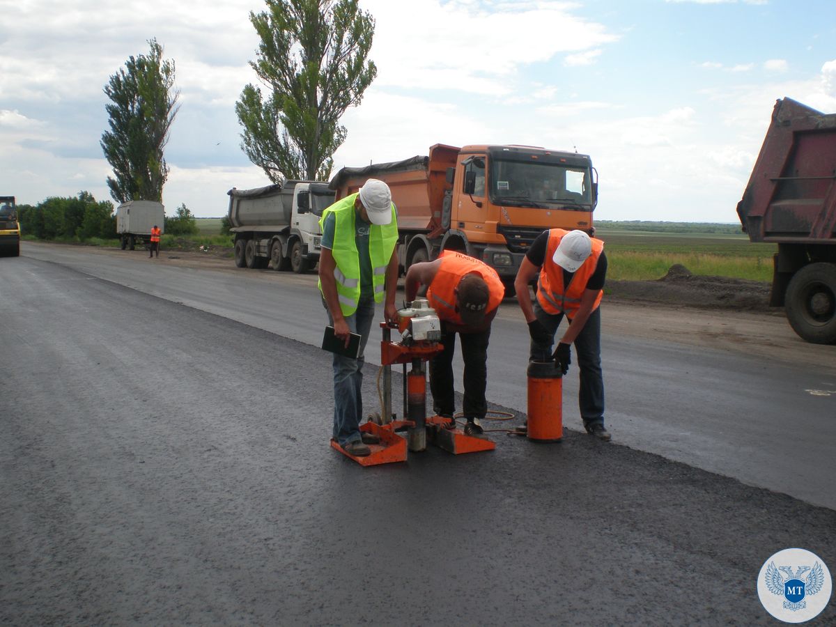
[[[737,215],[752,242],[836,242],[836,114],[777,101]]]

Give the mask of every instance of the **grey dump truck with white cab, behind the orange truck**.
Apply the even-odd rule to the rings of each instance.
[[[252,190],[233,187],[227,194],[238,268],[272,264],[305,273],[319,262],[319,218],[334,204],[328,183],[284,181]]]

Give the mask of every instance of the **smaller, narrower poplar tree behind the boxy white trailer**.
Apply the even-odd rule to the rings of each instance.
[[[171,124],[180,109],[174,90],[174,61],[162,59],[162,46],[150,39],[150,53],[130,57],[110,77],[104,93],[110,104],[110,131],[101,139],[104,156],[113,168],[108,176],[115,201],[162,201],[169,167],[163,156]]]

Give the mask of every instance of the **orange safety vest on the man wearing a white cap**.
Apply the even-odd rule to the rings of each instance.
[[[564,286],[563,268],[554,263],[552,257],[554,251],[558,249],[560,240],[567,233],[568,231],[564,231],[562,228],[553,228],[548,231],[546,257],[543,260],[543,268],[540,270],[540,278],[537,284],[537,300],[547,314],[566,314],[568,319],[571,320],[574,318],[574,314],[578,313],[580,299],[584,295],[586,284],[594,274],[595,268],[598,267],[601,252],[604,252],[604,242],[599,239],[592,240],[592,253],[578,268],[578,271],[574,273],[569,284]],[[593,310],[601,304],[601,298],[604,298],[603,289],[599,291],[598,298],[595,298]]]

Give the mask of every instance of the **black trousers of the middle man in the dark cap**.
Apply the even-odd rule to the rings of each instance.
[[[466,419],[482,419],[487,413],[487,343],[491,329],[481,333],[460,333],[461,359],[465,362],[463,382],[465,395],[462,410]],[[430,360],[430,391],[433,411],[452,416],[456,410],[453,390],[453,354],[456,351],[456,332],[441,323],[441,344],[444,350]]]

